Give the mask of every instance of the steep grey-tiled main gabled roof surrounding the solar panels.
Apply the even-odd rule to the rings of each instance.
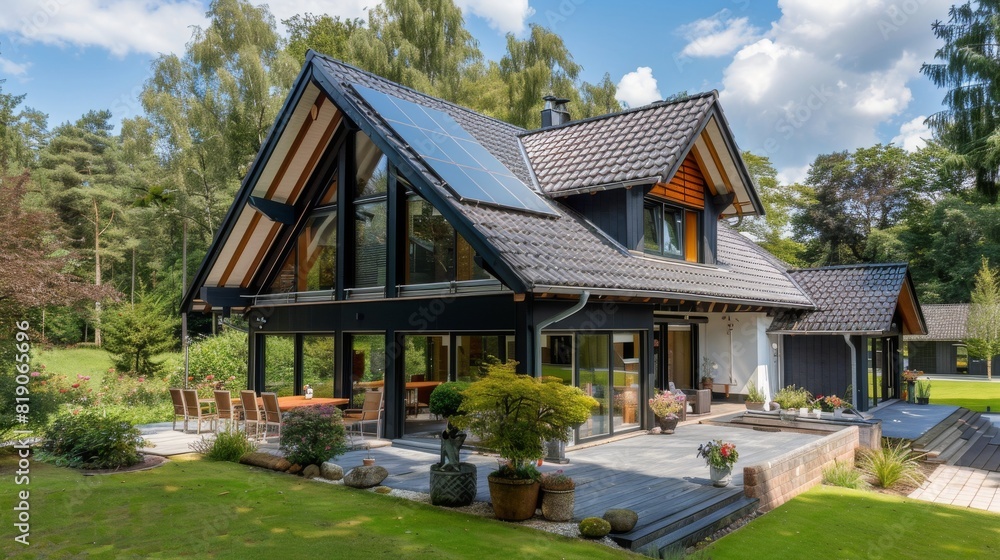
[[[251,239],[246,234],[237,235],[239,231],[234,224],[243,223],[249,219],[247,216],[257,214],[246,204],[250,193],[268,196],[269,189],[258,182],[261,177],[272,176],[273,171],[264,173],[262,170],[283,168],[285,160],[296,157],[293,151],[274,149],[274,146],[293,145],[289,138],[300,135],[303,126],[296,115],[309,115],[311,107],[321,103],[315,101],[316,94],[305,95],[317,89],[318,98],[328,99],[327,105],[336,108],[337,113],[332,116],[339,118],[343,114],[345,121],[360,128],[389,155],[406,181],[442,212],[500,280],[515,291],[579,293],[583,289],[591,289],[623,296],[768,307],[813,307],[810,299],[785,274],[785,267],[777,259],[721,222],[718,264],[698,265],[630,253],[582,216],[555,200],[547,199],[554,210],[552,215],[460,200],[444,188],[433,167],[368,105],[359,90],[355,89],[358,85],[447,113],[522,182],[529,186],[534,184],[520,141],[525,130],[310,52],[265,149],[255,160],[226,224],[223,224],[209,248],[202,269],[185,299],[185,308],[195,301],[201,286],[247,288],[247,279],[257,274],[254,270],[241,269],[239,274],[227,274],[228,283],[217,282],[221,278],[220,271],[232,269],[234,263],[240,263],[237,268],[244,266],[243,263],[256,266],[262,252],[269,250],[269,244],[279,237],[276,233],[278,228],[290,227],[269,223],[267,227],[271,229],[265,232],[267,236],[256,242],[260,236]],[[706,94],[691,99],[714,100],[715,95]],[[327,105],[321,104],[321,109]],[[642,111],[626,112],[602,120],[614,122],[616,118],[631,118],[629,115],[633,113]],[[302,122],[308,124],[310,121],[306,118]],[[331,120],[328,128],[338,125],[338,121]],[[324,138],[328,141],[329,130]],[[271,146],[270,151],[267,151],[268,146]],[[678,154],[678,161],[683,160],[685,154]],[[614,151],[607,152],[605,157],[609,162],[621,159]],[[625,159],[628,157],[625,156]],[[280,189],[277,192],[281,192]],[[295,204],[296,201],[284,202]],[[254,256],[240,260],[238,255],[241,252],[253,252]]]

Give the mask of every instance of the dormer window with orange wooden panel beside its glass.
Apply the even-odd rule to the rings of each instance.
[[[700,262],[698,212],[655,200],[643,206],[643,251],[650,255]]]

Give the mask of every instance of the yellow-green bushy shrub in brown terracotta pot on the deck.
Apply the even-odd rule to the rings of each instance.
[[[487,359],[483,377],[462,393],[461,414],[451,419],[500,455],[499,468],[487,480],[493,512],[506,521],[535,513],[539,475],[533,463],[544,456],[545,442],[568,441],[569,429],[599,404],[559,378],[518,375],[516,365]]]

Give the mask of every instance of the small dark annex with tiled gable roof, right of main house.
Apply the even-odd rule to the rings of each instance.
[[[905,333],[926,332],[906,264],[789,271],[815,310],[778,313],[786,384],[815,395],[849,395],[859,409],[900,396]]]

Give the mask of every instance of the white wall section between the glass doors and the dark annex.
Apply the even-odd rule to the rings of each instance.
[[[768,395],[779,388],[771,348],[771,343],[779,337],[768,337],[770,324],[771,318],[764,313],[708,315],[708,323],[702,330],[701,355],[719,365],[715,381],[729,383],[730,394],[746,394],[751,380]],[[731,344],[729,325],[732,325]],[[703,375],[701,366],[699,363],[699,377]]]

